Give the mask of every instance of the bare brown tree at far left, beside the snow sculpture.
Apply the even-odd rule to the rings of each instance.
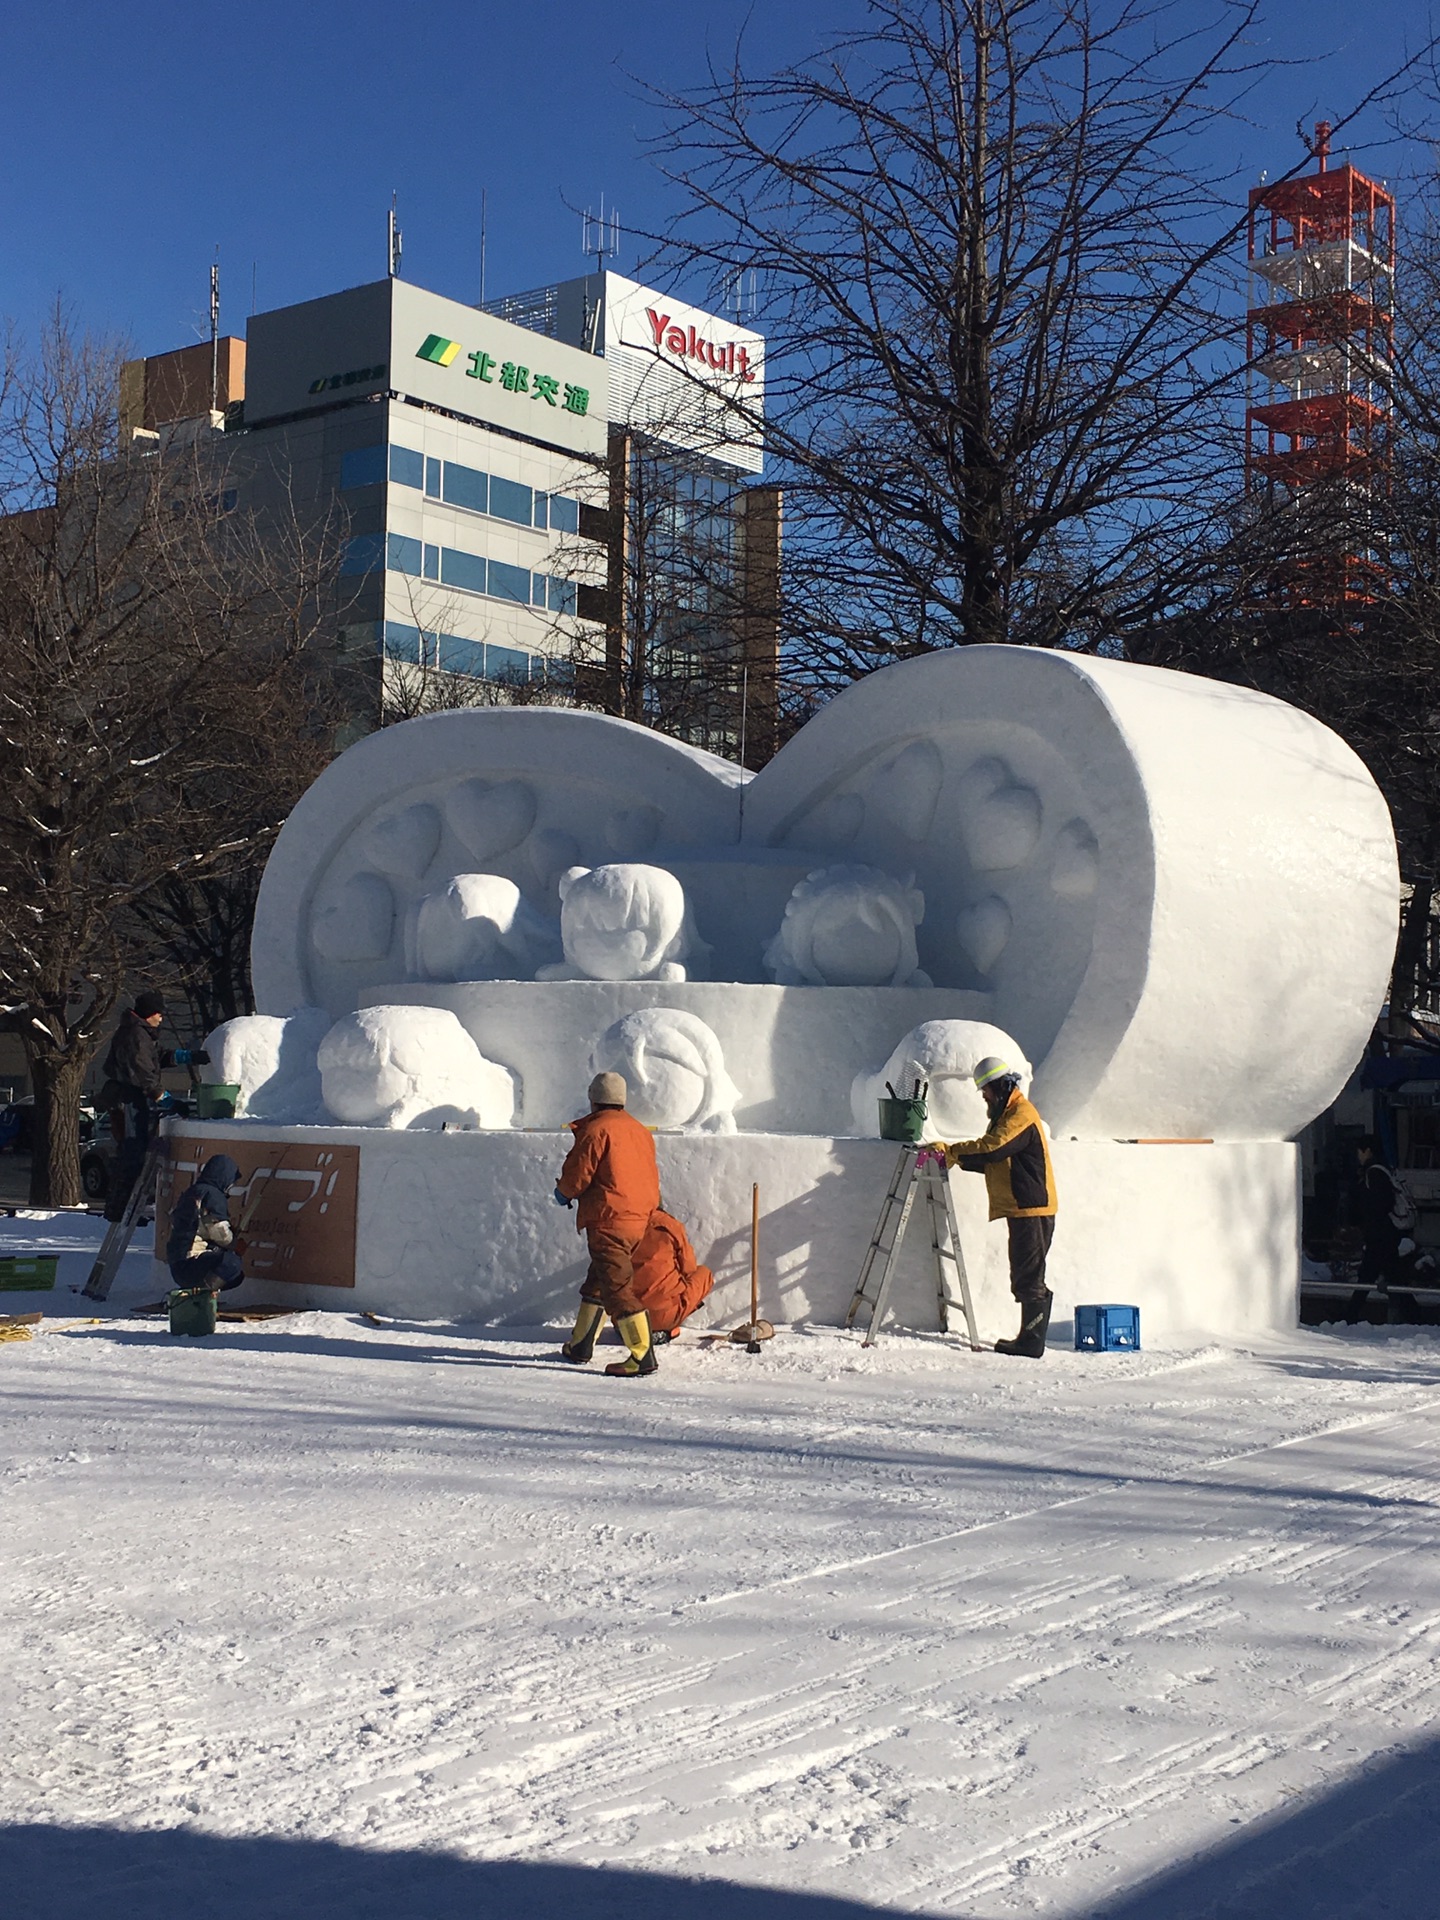
[[[252,860],[330,745],[309,643],[334,541],[261,530],[215,436],[121,445],[119,365],[56,313],[0,378],[0,993],[36,1204],[79,1200],[81,1085],[136,914]]]

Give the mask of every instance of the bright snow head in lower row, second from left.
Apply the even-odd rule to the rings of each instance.
[[[321,1041],[321,1087],[348,1127],[513,1127],[518,1087],[444,1006],[361,1006]]]

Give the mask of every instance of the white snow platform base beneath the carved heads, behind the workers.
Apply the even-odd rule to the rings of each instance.
[[[507,1325],[570,1321],[584,1275],[574,1215],[551,1200],[566,1133],[390,1133],[179,1121],[177,1158],[227,1140],[359,1148],[355,1286],[253,1283],[244,1304],[372,1309],[405,1319]],[[1060,1223],[1050,1256],[1052,1342],[1081,1302],[1140,1308],[1146,1344],[1171,1334],[1256,1334],[1296,1323],[1300,1194],[1283,1140],[1139,1146],[1056,1140]],[[760,1308],[778,1323],[839,1325],[851,1304],[897,1148],[818,1135],[666,1133],[657,1140],[664,1204],[714,1267],[697,1321],[749,1313],[751,1181],[760,1183]],[[981,1338],[1016,1331],[1004,1223],[985,1221],[983,1183],[952,1175]],[[157,1284],[165,1284],[165,1269]],[[924,1229],[906,1238],[895,1323],[933,1331]],[[695,1323],[691,1323],[695,1325]],[[856,1336],[858,1340],[858,1336]],[[983,1363],[977,1359],[975,1363]],[[968,1354],[956,1367],[972,1365]],[[1020,1365],[993,1359],[991,1365]],[[1096,1359],[1096,1365],[1108,1365]]]

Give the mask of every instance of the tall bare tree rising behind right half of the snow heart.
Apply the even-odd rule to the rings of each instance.
[[[1196,156],[1265,71],[1258,13],[874,0],[814,60],[670,102],[666,257],[756,276],[820,685],[1185,603],[1242,363],[1240,182]]]

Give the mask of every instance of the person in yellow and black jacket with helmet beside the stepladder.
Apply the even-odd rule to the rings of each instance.
[[[996,1354],[1023,1359],[1044,1356],[1054,1294],[1044,1284],[1044,1260],[1054,1236],[1056,1190],[1044,1121],[1020,1091],[1020,1075],[991,1054],[975,1068],[975,1085],[985,1096],[989,1129],[977,1140],[958,1140],[935,1148],[947,1167],[983,1173],[991,1200],[991,1219],[1010,1229],[1010,1292],[1020,1302],[1020,1332],[996,1340]]]

